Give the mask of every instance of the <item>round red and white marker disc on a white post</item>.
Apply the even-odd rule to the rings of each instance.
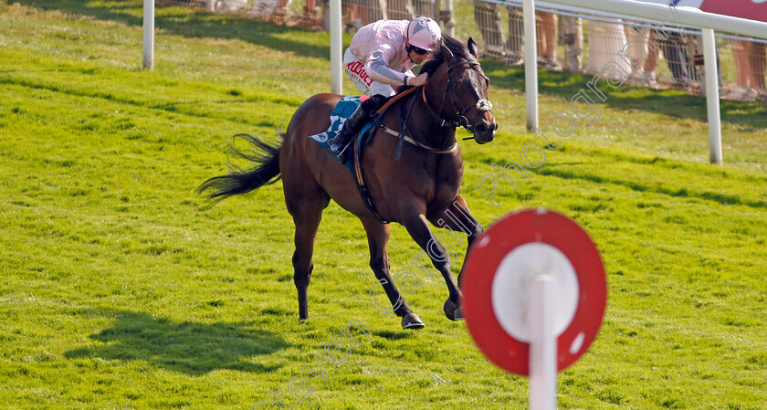
[[[572,219],[543,208],[502,217],[471,248],[468,331],[490,362],[530,376],[530,409],[556,408],[557,373],[594,342],[607,304],[599,251]]]

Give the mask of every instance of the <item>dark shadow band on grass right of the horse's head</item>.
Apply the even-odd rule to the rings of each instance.
[[[523,66],[509,67],[498,61],[482,60],[482,68],[492,80],[493,87],[516,89],[524,93]],[[581,89],[594,98],[594,92],[586,86],[593,78],[594,75],[539,69],[538,89],[541,94],[566,101],[571,100]],[[594,102],[599,106],[615,110],[655,112],[669,117],[708,122],[705,96],[694,96],[676,89],[651,89],[629,85],[611,89],[604,80],[599,81],[599,84],[600,91],[607,99],[600,101],[594,98]],[[720,100],[720,112],[721,121],[737,123],[745,128],[743,131],[753,132],[767,128],[767,105],[764,103]],[[549,120],[541,118],[541,125],[546,125]]]

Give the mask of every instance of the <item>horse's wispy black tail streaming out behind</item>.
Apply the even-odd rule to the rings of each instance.
[[[284,137],[284,133],[280,132],[280,137]],[[235,140],[237,138],[248,142],[253,146],[253,149],[246,152],[236,149]],[[269,145],[253,135],[236,134],[229,142],[229,149],[236,156],[256,163],[256,165],[243,170],[229,163],[229,173],[214,176],[200,184],[197,188],[197,194],[205,194],[208,199],[213,201],[212,205],[215,205],[229,196],[246,194],[261,186],[276,183],[279,179],[279,149],[281,145],[282,142]]]

